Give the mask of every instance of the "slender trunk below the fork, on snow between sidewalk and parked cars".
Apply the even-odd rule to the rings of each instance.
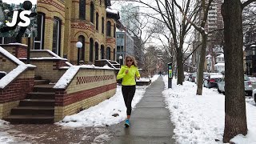
[[[200,52],[200,62],[199,62],[199,70],[198,70],[198,90],[197,94],[202,95],[202,78],[203,78],[203,69],[205,66],[205,60],[206,60],[206,46],[207,46],[207,35],[201,33],[202,35],[202,49]]]

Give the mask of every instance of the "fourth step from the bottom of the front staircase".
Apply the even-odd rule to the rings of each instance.
[[[27,99],[55,99],[53,92],[30,92],[26,94]]]

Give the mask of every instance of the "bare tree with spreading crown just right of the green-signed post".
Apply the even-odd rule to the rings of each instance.
[[[140,2],[144,4],[150,10],[154,10],[156,14],[148,14],[149,17],[155,18],[158,22],[162,22],[166,25],[170,34],[172,35],[173,44],[175,51],[177,53],[177,66],[178,66],[178,81],[177,84],[182,85],[184,80],[183,72],[183,44],[186,39],[186,34],[189,32],[191,25],[186,21],[186,18],[182,14],[178,14],[177,7],[174,5],[173,1],[168,0],[154,0],[154,4],[146,3],[142,0],[135,0],[135,2]],[[150,1],[152,2],[152,1]],[[195,21],[195,18],[199,10],[191,10],[190,6],[197,5],[197,3],[192,3],[190,0],[182,1],[182,6],[184,8],[184,13],[188,16],[191,22]],[[196,6],[198,7],[198,6]]]

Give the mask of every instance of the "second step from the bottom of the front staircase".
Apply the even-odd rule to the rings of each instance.
[[[50,106],[18,106],[10,111],[11,115],[33,115],[46,114],[54,115],[54,107]]]

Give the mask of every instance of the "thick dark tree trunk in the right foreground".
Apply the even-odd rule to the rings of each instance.
[[[225,128],[223,142],[230,142],[238,134],[247,134],[246,102],[242,55],[242,4],[240,0],[225,0]]]

